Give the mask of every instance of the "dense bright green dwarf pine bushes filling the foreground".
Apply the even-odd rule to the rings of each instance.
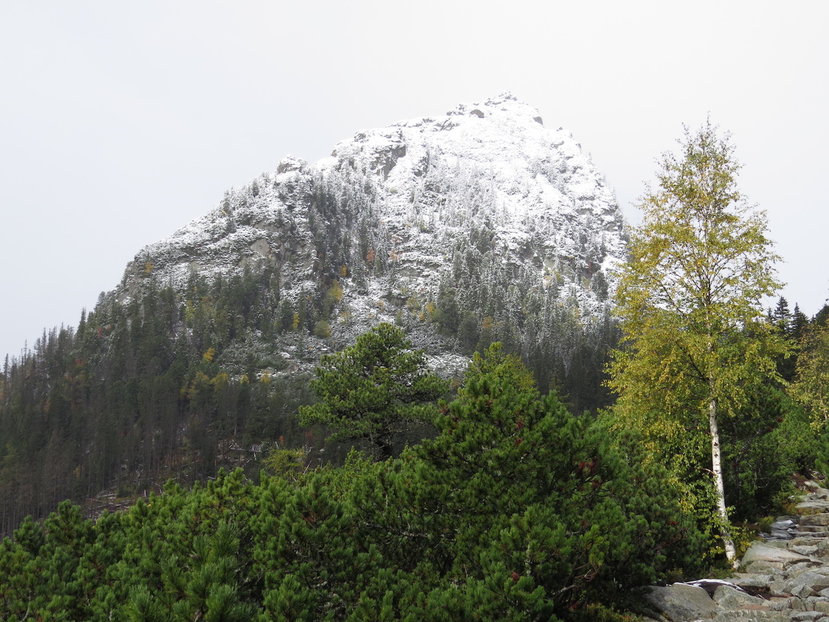
[[[700,558],[666,474],[499,347],[439,429],[397,459],[221,471],[95,522],[61,504],[0,544],[0,617],[621,620],[633,586]]]

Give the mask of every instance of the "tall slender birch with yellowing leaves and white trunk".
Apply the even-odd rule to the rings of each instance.
[[[783,340],[764,321],[775,278],[773,242],[763,211],[737,187],[740,164],[730,137],[710,120],[685,129],[681,154],[662,155],[657,188],[641,199],[621,270],[618,314],[623,347],[608,385],[618,394],[618,425],[635,427],[662,452],[689,452],[710,441],[715,515],[725,555],[736,553],[720,458],[723,417],[737,415],[752,386],[777,378]],[[664,457],[664,454],[663,454]]]

